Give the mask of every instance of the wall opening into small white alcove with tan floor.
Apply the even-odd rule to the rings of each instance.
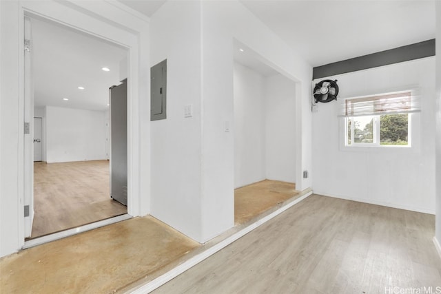
[[[234,218],[252,220],[295,196],[296,82],[234,41]]]

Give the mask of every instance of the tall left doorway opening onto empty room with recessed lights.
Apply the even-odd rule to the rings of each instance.
[[[110,192],[109,89],[127,78],[127,49],[41,17],[25,17],[25,39],[25,116],[34,117],[25,240],[126,215],[127,200],[121,204]]]

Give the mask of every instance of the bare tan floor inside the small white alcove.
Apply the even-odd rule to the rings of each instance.
[[[263,180],[234,191],[234,222],[243,224],[299,195],[296,184]]]

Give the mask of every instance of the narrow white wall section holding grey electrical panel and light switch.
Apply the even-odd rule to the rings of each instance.
[[[167,59],[167,119],[151,123],[152,216],[201,241],[201,8],[167,1],[152,16],[151,66]],[[193,117],[184,118],[192,104]]]

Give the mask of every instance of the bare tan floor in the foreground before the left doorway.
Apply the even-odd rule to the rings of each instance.
[[[1,293],[112,293],[199,244],[155,218],[134,218],[0,260]]]

